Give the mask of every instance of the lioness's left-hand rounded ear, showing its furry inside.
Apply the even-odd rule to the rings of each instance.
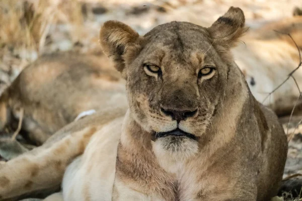
[[[120,72],[123,72],[125,62],[132,59],[133,51],[139,48],[139,38],[136,31],[118,21],[105,22],[100,31],[103,51],[113,58],[115,67]]]

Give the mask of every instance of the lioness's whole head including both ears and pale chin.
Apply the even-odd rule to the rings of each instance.
[[[209,28],[171,22],[139,36],[121,22],[103,25],[101,45],[127,80],[131,116],[158,146],[198,147],[227,85],[233,87],[230,76],[243,79],[239,69],[230,74],[236,66],[230,48],[246,32],[244,24],[242,10],[231,7]]]

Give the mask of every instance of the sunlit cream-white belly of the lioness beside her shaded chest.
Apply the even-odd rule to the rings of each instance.
[[[123,117],[110,122],[91,138],[83,155],[66,168],[64,201],[112,201],[117,149]]]

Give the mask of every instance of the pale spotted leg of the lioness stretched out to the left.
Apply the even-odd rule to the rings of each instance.
[[[0,199],[59,187],[71,160],[84,152],[96,127],[55,134],[43,146],[0,166]]]

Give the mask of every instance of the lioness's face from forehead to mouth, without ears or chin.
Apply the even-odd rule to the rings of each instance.
[[[193,24],[172,22],[145,37],[126,71],[133,116],[155,138],[175,130],[198,138],[223,94],[226,64],[207,31]]]

